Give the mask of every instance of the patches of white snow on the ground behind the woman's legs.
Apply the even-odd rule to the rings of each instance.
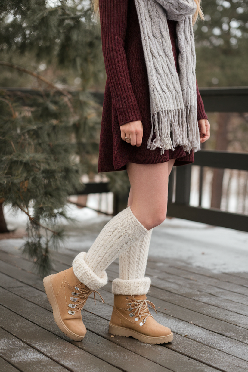
[[[26,216],[4,209],[10,229],[23,228]],[[88,250],[97,234],[110,217],[98,215],[89,208],[78,209],[68,205],[68,215],[75,221],[65,226],[65,248],[73,251]],[[3,244],[20,246],[22,239],[6,239]],[[149,255],[175,259],[192,266],[205,267],[215,272],[248,272],[248,233],[214,227],[179,218],[166,219],[154,228]]]

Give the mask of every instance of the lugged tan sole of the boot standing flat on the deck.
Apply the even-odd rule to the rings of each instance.
[[[146,344],[164,344],[173,340],[173,333],[162,337],[151,337],[145,334],[139,333],[130,328],[120,327],[109,323],[109,333],[115,336],[129,337],[132,336],[134,339],[145,342]]]

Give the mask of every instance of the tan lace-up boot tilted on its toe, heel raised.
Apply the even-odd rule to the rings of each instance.
[[[83,340],[86,328],[82,321],[81,310],[88,296],[94,293],[95,297],[97,291],[92,291],[81,283],[75,276],[72,267],[60,273],[46,276],[43,283],[52,306],[54,320],[59,329],[74,341]],[[99,292],[97,293],[99,294]],[[100,297],[103,301],[101,295]]]

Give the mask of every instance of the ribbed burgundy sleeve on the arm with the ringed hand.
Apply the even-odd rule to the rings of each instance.
[[[103,58],[119,125],[142,120],[124,50],[128,0],[100,0],[99,5]]]

